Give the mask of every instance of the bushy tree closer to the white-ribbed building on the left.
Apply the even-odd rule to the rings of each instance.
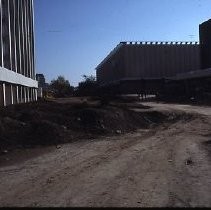
[[[50,83],[50,88],[53,90],[55,97],[68,97],[73,94],[74,88],[70,86],[70,82],[64,76],[58,76]]]

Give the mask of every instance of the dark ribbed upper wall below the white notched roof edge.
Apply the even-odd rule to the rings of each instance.
[[[198,69],[198,43],[123,42],[97,67],[97,80],[161,79]]]

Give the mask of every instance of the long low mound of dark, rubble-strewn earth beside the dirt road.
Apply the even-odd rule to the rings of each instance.
[[[158,112],[137,113],[114,105],[102,107],[55,102],[16,105],[0,111],[0,150],[119,135],[178,120],[181,116],[177,118],[177,115]]]

